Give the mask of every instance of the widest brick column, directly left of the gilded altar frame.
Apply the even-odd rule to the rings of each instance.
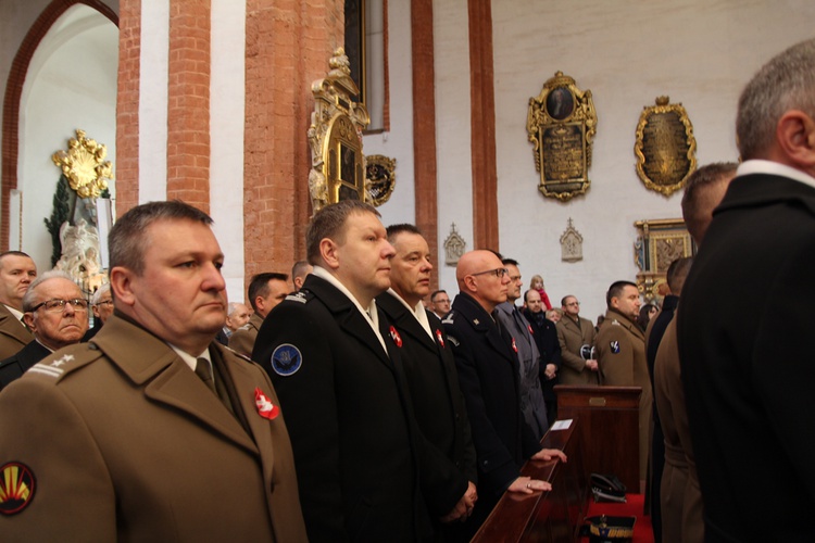
[[[342,0],[247,1],[247,283],[259,272],[289,273],[305,256],[311,84],[325,77],[343,43],[343,10]]]

